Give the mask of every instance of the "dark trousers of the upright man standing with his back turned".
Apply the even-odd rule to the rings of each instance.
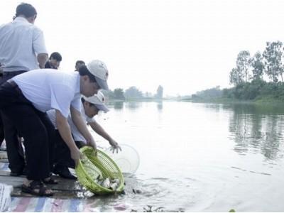
[[[0,80],[0,85],[6,82],[7,80],[10,80],[14,76],[22,74],[23,72],[26,71],[4,72],[4,75],[1,77]],[[9,168],[13,173],[22,173],[26,163],[23,153],[23,146],[18,136],[18,131],[16,130],[15,126],[11,124],[11,121],[1,113],[1,111],[0,120],[2,120],[2,126],[0,124],[0,132],[2,128],[6,141]],[[0,143],[2,143],[2,141],[3,140],[1,140],[0,138]]]

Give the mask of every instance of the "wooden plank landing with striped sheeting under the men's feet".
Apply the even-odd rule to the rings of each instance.
[[[72,170],[72,173],[75,171]],[[6,151],[0,151],[0,182],[13,186],[11,204],[8,212],[183,212],[180,209],[165,209],[145,204],[138,207],[135,203],[122,200],[125,196],[143,196],[142,187],[137,188],[135,175],[124,175],[124,193],[114,195],[94,195],[82,187],[78,181],[60,178],[57,185],[48,185],[55,192],[52,197],[36,197],[21,192],[25,176],[10,176]]]

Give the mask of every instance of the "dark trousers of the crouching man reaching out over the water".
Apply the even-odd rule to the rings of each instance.
[[[71,158],[70,149],[61,138],[59,131],[56,130],[55,132],[55,165],[58,164],[69,168],[75,168],[75,161]],[[82,141],[75,141],[75,143],[78,148],[84,146]]]

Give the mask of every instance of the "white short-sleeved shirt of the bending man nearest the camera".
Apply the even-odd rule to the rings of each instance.
[[[79,72],[38,69],[12,78],[39,111],[58,109],[67,118],[70,105],[81,110]]]

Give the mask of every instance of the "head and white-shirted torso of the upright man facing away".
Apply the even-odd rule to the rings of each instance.
[[[44,68],[48,60],[43,31],[34,25],[37,12],[31,4],[16,8],[16,18],[0,26],[2,82],[28,70]]]

